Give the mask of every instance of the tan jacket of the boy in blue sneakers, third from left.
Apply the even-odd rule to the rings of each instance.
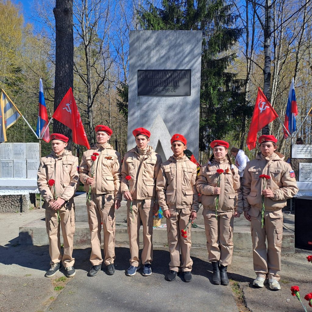
[[[158,203],[156,179],[162,160],[151,146],[147,148],[149,149],[147,154],[141,155],[143,156],[142,163],[137,147],[124,155],[121,169],[121,192],[124,193],[130,187],[132,198],[139,200],[154,198],[154,202]],[[127,175],[131,176],[129,183],[126,180]]]

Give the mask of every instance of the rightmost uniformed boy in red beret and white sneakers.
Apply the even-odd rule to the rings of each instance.
[[[283,235],[283,212],[286,200],[298,192],[295,173],[284,155],[276,152],[277,139],[261,135],[258,140],[261,152],[247,163],[242,179],[244,216],[251,222],[253,264],[256,287],[263,287],[268,279],[272,290],[279,290],[280,252]],[[267,175],[269,178],[259,178]],[[266,180],[266,189],[263,183]],[[261,228],[261,210],[264,196],[264,220]],[[266,239],[268,247],[266,248]]]

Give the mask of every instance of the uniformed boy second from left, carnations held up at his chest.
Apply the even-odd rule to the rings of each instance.
[[[88,193],[88,221],[91,236],[89,276],[95,276],[102,267],[101,230],[104,229],[104,263],[107,274],[115,273],[115,209],[120,207],[120,154],[108,143],[112,129],[104,125],[95,127],[96,142],[82,156],[79,167],[80,181]],[[95,160],[92,160],[95,158]],[[93,175],[93,177],[92,177]]]

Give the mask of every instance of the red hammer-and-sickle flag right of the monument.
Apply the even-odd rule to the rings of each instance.
[[[257,132],[276,118],[278,118],[277,113],[263,94],[262,90],[258,87],[257,100],[246,141],[249,150],[256,147]]]

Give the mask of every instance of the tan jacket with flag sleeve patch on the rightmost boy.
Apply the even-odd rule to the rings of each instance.
[[[262,209],[261,193],[263,189],[263,178],[261,174],[271,177],[267,180],[267,187],[274,193],[274,198],[264,197],[265,211],[276,211],[286,206],[286,199],[294,197],[298,193],[295,178],[290,177],[292,168],[284,161],[284,155],[275,152],[275,157],[263,158],[261,153],[256,159],[247,163],[242,179],[242,192],[244,211],[251,207]]]

